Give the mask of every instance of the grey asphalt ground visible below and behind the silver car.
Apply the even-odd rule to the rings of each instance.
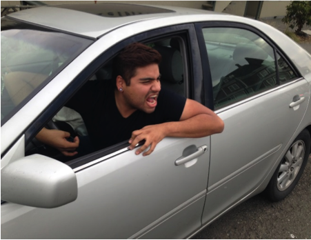
[[[285,31],[281,19],[266,23]],[[304,26],[303,30],[310,30]],[[299,43],[311,54],[311,43]],[[192,239],[311,239],[311,155],[296,188],[273,203],[259,194],[214,221]]]

